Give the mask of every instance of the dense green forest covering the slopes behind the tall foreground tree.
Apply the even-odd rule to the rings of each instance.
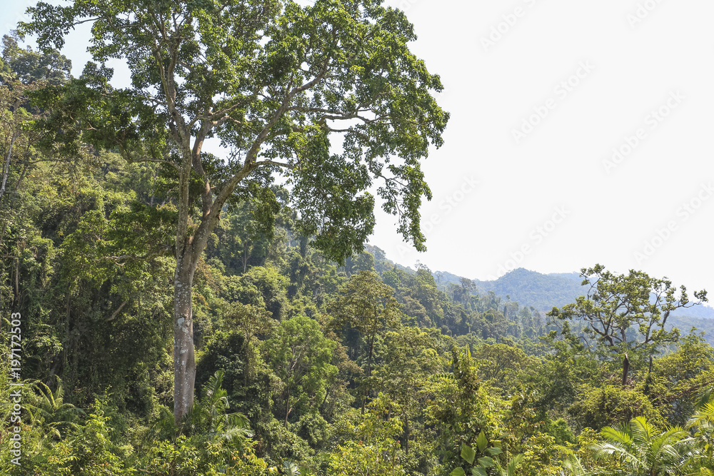
[[[86,9],[99,8],[94,3]],[[367,3],[361,14],[407,29],[393,10]],[[43,24],[51,8],[38,7],[37,23],[25,28],[61,32],[61,24]],[[375,24],[340,21],[354,29]],[[36,51],[21,40],[4,36],[0,64],[2,474],[713,474],[714,350],[703,333],[672,327],[670,318],[705,302],[704,291],[688,294],[665,278],[584,263],[591,267],[581,270],[580,294],[544,313],[484,283],[446,279],[426,265],[404,268],[376,246],[363,248],[353,235],[366,237],[369,227],[356,217],[373,204],[341,199],[360,188],[304,163],[302,178],[326,182],[308,188],[301,176],[280,183],[258,173],[228,193],[238,199],[216,208],[211,196],[218,192],[206,177],[232,180],[217,158],[193,156],[203,178],[176,165],[188,163],[190,171],[191,151],[186,160],[176,150],[170,160],[130,160],[158,129],[136,136],[116,129],[128,142],[114,144],[103,134],[126,125],[115,116],[129,123],[132,114],[146,119],[154,110],[129,108],[136,91],[92,84],[86,74],[78,81],[59,51]],[[96,48],[105,58],[116,54]],[[191,51],[181,54],[198,50]],[[150,61],[134,60],[154,74]],[[281,69],[285,61],[266,66],[270,81],[290,76]],[[420,81],[438,86],[414,64]],[[91,71],[95,78],[106,74],[100,70]],[[433,126],[439,110],[420,96],[421,86],[402,86],[431,108],[422,112],[434,115]],[[325,91],[311,100],[318,93]],[[342,99],[333,96],[326,103]],[[107,99],[111,120],[93,122],[103,116],[92,108],[105,97],[124,103]],[[271,107],[265,101],[261,113]],[[71,128],[76,123],[83,126]],[[378,137],[403,141],[395,147],[406,156],[426,148],[426,139],[415,145],[412,136],[369,127],[374,131],[358,133],[376,136],[354,138],[359,147],[378,153],[381,146],[371,142]],[[412,132],[433,133],[438,142],[440,131]],[[317,153],[321,143],[293,140],[299,147],[278,139],[272,145]],[[331,158],[323,159],[329,170]],[[335,177],[346,174],[337,168]],[[400,231],[423,247],[412,227],[413,199],[428,190],[418,186],[418,169],[393,172],[416,187],[404,192],[410,203],[391,206],[406,207],[411,218]],[[321,224],[309,218],[321,209],[310,195],[315,189],[329,192],[331,211],[318,216]],[[182,216],[186,227],[177,238]],[[352,228],[343,232],[335,223]],[[188,256],[177,241],[186,237],[204,240],[195,248],[188,314],[178,309],[177,291],[179,262]],[[537,289],[524,295],[540,302]],[[192,357],[195,349],[190,398],[175,388],[188,381],[177,374],[188,353],[177,332],[188,335]],[[177,412],[177,395],[190,403],[186,412]]]

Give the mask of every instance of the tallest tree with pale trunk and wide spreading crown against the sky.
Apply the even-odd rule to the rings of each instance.
[[[416,36],[403,12],[379,0],[75,0],[28,13],[21,30],[45,50],[92,24],[95,62],[37,96],[55,106],[45,140],[82,137],[175,178],[176,422],[193,403],[193,274],[226,203],[258,197],[271,207],[269,185],[283,175],[303,235],[343,261],[373,229],[366,190],[380,179],[383,208],[425,249],[418,208],[431,191],[420,160],[441,146],[448,113],[429,92],[440,79],[408,49]],[[131,86],[109,82],[115,58]],[[203,152],[214,136],[231,149],[223,160]],[[338,153],[332,138],[343,139]]]

